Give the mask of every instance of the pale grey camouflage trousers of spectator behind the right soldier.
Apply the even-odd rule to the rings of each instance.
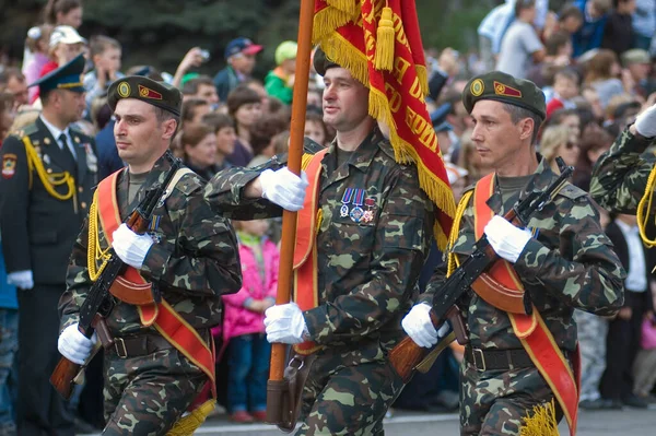
[[[597,315],[574,310],[581,349],[581,401],[597,400],[599,382],[606,369],[608,321]]]

